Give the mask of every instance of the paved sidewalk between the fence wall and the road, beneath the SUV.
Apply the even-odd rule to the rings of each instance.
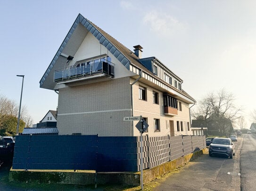
[[[154,191],[240,191],[240,148],[243,138],[234,142],[233,159],[203,154],[167,177],[154,181]],[[255,159],[255,158],[254,158]],[[152,183],[153,184],[153,183]],[[155,187],[155,188],[153,188]],[[256,190],[252,190],[256,191]]]

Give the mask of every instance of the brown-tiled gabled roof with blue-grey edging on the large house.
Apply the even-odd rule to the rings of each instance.
[[[86,30],[84,30],[84,28]],[[59,69],[59,68],[56,68],[55,66],[56,62],[61,57],[61,55],[63,54],[67,55],[66,52],[68,52],[68,55],[74,56],[74,54],[82,44],[83,39],[85,38],[88,32],[91,32],[91,34],[99,40],[99,43],[105,46],[107,50],[110,53],[112,53],[116,57],[116,59],[125,66],[126,69],[130,70],[130,64],[132,64],[138,67],[139,69],[145,71],[146,73],[150,74],[151,76],[154,76],[162,83],[169,86],[169,84],[167,84],[163,79],[154,75],[152,71],[150,71],[145,66],[143,66],[142,63],[140,62],[140,58],[136,56],[136,54],[133,53],[130,49],[122,45],[115,38],[107,34],[107,32],[100,29],[97,25],[95,25],[88,19],[84,18],[83,15],[78,14],[74,24],[72,25],[71,29],[66,35],[66,38],[64,39],[61,46],[59,47],[48,69],[42,76],[40,80],[41,88],[52,89],[52,90],[54,89],[57,83],[53,82],[53,73],[55,69]],[[76,37],[75,39],[74,39],[74,36]],[[67,45],[70,45],[72,47],[67,48]],[[155,58],[155,57],[152,57],[152,58]],[[50,77],[50,79],[47,79],[48,77]],[[185,95],[186,97],[196,102],[195,99],[193,99],[188,93],[184,92],[183,90],[182,91],[176,90],[176,91],[181,92],[183,95]]]

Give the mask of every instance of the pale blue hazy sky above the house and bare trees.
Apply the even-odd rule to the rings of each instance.
[[[0,94],[22,105],[34,123],[58,106],[39,81],[81,13],[124,46],[143,47],[183,79],[200,100],[225,88],[256,109],[255,0],[0,0]],[[248,121],[247,128],[249,128]]]

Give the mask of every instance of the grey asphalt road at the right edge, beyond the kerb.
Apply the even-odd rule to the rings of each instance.
[[[256,191],[256,135],[243,135],[240,161],[241,190]]]

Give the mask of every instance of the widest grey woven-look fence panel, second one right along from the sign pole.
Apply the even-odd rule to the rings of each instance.
[[[149,138],[149,168],[170,161],[169,136]]]

